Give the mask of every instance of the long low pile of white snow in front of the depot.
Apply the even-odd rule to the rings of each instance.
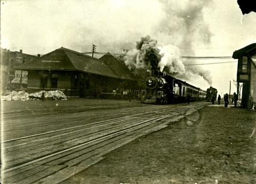
[[[28,94],[25,91],[11,91],[8,95],[1,96],[2,101],[31,101],[34,99],[45,100],[67,100],[67,96],[60,90],[55,91],[38,91]]]

